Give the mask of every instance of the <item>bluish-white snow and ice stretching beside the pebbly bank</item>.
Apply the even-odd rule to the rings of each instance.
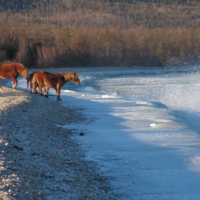
[[[71,71],[48,71],[61,70]],[[64,127],[84,133],[76,138],[86,159],[111,177],[120,200],[200,199],[199,67],[73,71],[81,84],[67,83],[61,104],[88,120]]]

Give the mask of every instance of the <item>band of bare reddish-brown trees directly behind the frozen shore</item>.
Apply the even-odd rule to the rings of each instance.
[[[39,29],[1,32],[0,61],[33,68],[198,63],[200,29]]]

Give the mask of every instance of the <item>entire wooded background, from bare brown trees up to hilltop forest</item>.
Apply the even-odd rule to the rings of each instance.
[[[198,64],[199,8],[198,0],[0,0],[0,62]]]

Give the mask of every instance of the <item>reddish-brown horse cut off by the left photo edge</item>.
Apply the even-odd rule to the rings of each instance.
[[[27,80],[28,70],[20,63],[0,64],[0,78],[12,79],[12,88],[17,87],[17,77],[21,74]]]

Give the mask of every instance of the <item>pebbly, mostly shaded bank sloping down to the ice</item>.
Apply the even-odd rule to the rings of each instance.
[[[0,89],[0,199],[117,199],[109,178],[84,160],[78,133],[58,126],[82,120],[80,110]]]

